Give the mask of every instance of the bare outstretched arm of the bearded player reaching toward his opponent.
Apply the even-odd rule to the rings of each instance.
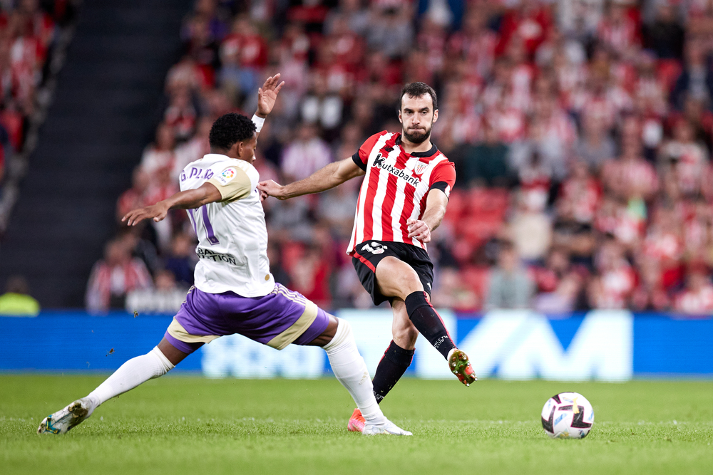
[[[299,180],[299,182],[292,182],[283,186],[270,179],[257,184],[257,189],[260,190],[263,199],[265,199],[265,196],[288,199],[299,197],[303,194],[324,192],[346,182],[348,179],[359,177],[363,174],[364,170],[357,167],[350,157],[339,162],[330,163],[326,167],[318,169],[317,172],[309,175],[309,177]]]

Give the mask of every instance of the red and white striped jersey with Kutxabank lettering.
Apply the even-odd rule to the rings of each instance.
[[[347,254],[364,241],[426,244],[409,238],[406,221],[421,219],[431,189],[451,194],[456,168],[436,145],[428,152],[406,153],[401,134],[379,132],[369,137],[352,160],[366,172],[356,202],[354,231]]]

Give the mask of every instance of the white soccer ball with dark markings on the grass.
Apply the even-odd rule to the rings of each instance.
[[[584,439],[593,424],[592,404],[576,392],[560,392],[542,408],[542,428],[553,439]]]

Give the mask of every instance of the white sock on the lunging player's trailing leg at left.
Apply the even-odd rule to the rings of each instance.
[[[161,353],[158,347],[154,347],[153,350],[145,355],[131,358],[121,365],[106,381],[101,383],[96,390],[89,393],[86,397],[91,402],[89,414],[112,397],[133,390],[142,382],[163,376],[173,368],[174,365]]]

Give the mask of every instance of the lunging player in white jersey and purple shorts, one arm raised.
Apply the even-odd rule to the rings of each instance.
[[[252,162],[257,135],[283,84],[279,74],[265,81],[252,120],[231,113],[213,123],[210,154],[183,169],[180,192],[123,217],[134,226],[143,219],[158,222],[169,209],[187,209],[198,235],[195,287],[158,346],[125,362],[88,396],[43,419],[37,432],[64,434],[103,402],[165,375],[201,345],[240,333],[277,350],[290,343],[321,346],[366,418],[364,434],[411,435],[379,409],[349,323],[275,283],[270,273],[265,213],[256,188],[260,177]]]

